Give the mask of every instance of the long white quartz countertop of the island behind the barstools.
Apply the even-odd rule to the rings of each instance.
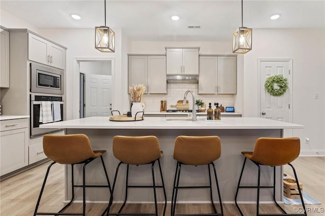
[[[175,117],[173,117],[175,118]],[[182,117],[180,117],[182,118]],[[228,117],[221,121],[206,121],[205,117],[191,120],[167,120],[165,117],[148,117],[142,121],[116,122],[109,117],[88,117],[40,125],[40,128],[83,129],[302,129],[303,125],[264,118]],[[186,118],[184,118],[186,119]]]

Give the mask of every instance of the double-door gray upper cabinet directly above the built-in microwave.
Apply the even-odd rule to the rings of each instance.
[[[35,34],[28,33],[28,59],[64,69],[66,49]]]

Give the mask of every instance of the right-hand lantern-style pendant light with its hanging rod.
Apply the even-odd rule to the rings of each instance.
[[[233,53],[247,53],[252,50],[252,29],[243,27],[243,0],[242,0],[242,27],[233,35]]]

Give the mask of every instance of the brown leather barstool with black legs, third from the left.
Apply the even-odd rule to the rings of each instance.
[[[217,160],[221,155],[221,143],[218,136],[178,136],[175,140],[174,146],[174,159],[177,161],[177,167],[175,171],[171,215],[193,215],[193,214],[175,214],[176,201],[178,189],[186,188],[209,188],[211,203],[214,209],[214,213],[200,214],[200,215],[223,215],[221,195],[219,191],[217,172],[213,161]],[[182,165],[207,165],[209,170],[209,186],[194,186],[194,187],[179,187],[179,178]],[[216,181],[218,197],[220,202],[221,213],[217,213],[217,210],[213,203],[212,186],[211,186],[211,172],[210,165],[213,167],[214,177]]]

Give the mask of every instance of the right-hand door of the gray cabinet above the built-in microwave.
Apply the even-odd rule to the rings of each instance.
[[[64,69],[64,62],[66,62],[66,50],[55,44],[48,43],[48,51],[48,55],[50,56],[50,65]]]

